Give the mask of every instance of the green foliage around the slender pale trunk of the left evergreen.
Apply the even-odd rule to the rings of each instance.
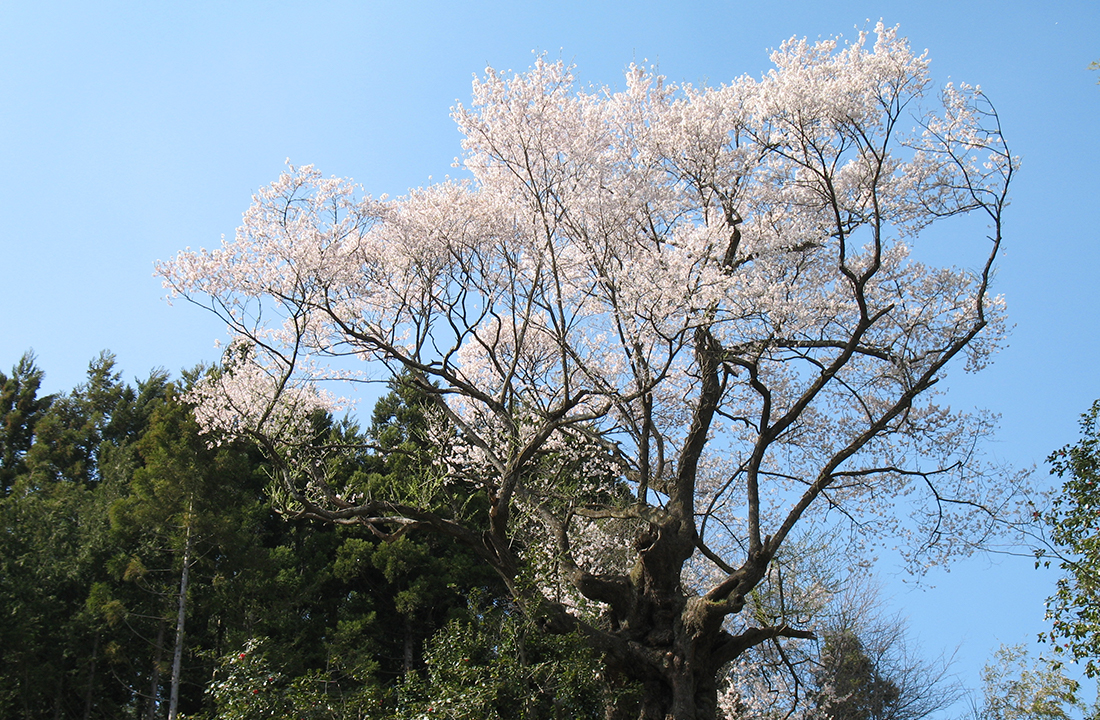
[[[110,564],[114,605],[103,608],[125,618],[124,628],[112,633],[112,651],[117,663],[125,665],[130,691],[161,696],[170,678],[166,663],[176,632],[185,546],[191,545],[180,679],[182,707],[194,711],[201,706],[210,666],[189,649],[213,644],[216,638],[204,636],[211,623],[215,632],[232,627],[228,611],[240,607],[238,598],[248,597],[246,583],[239,578],[262,561],[255,524],[266,509],[255,461],[230,445],[209,446],[178,392],[174,384],[163,383],[157,396],[142,401],[148,394],[139,391],[132,403],[112,412],[108,436],[132,452],[134,464],[125,491],[110,506],[118,549]],[[227,566],[233,568],[228,576]]]

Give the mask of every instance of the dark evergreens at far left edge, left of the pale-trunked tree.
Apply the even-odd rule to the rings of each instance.
[[[30,401],[42,374],[29,357],[13,373],[18,381],[3,384],[21,388],[6,396],[13,399],[6,421],[21,419],[4,434],[16,462],[6,461],[12,473],[0,497],[0,718],[120,717],[132,695],[105,667],[124,617],[106,571],[108,507],[133,467],[141,394],[118,381],[103,354],[73,392]],[[143,387],[156,395],[160,380]]]

